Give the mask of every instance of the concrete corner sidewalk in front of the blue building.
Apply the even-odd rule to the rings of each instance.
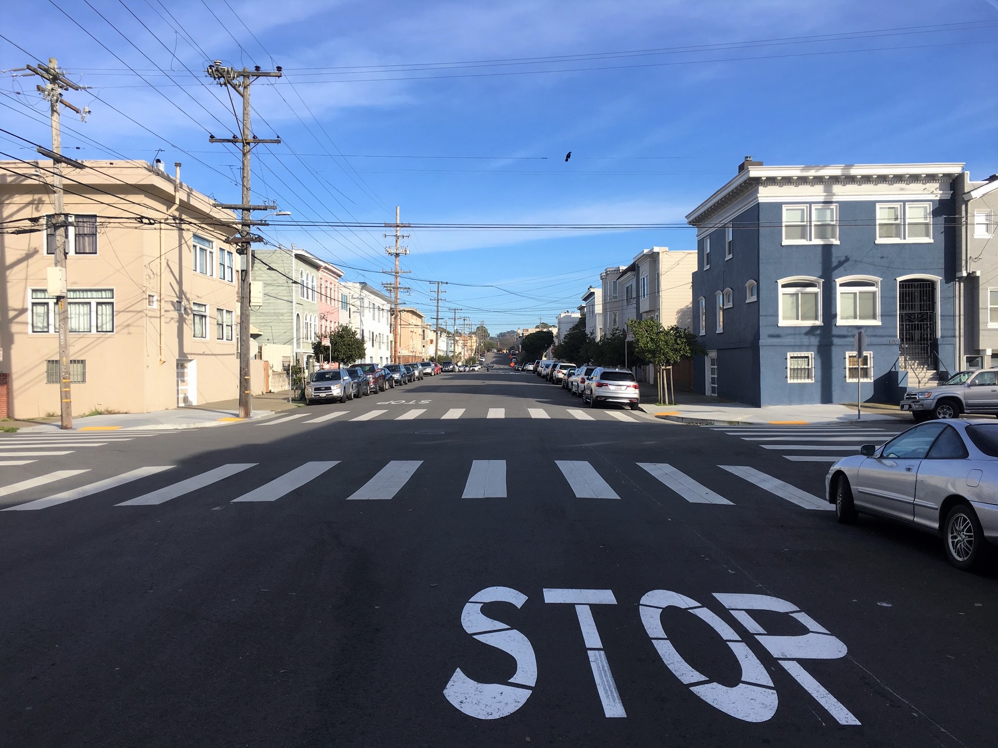
[[[677,392],[675,405],[655,405],[658,392],[655,385],[641,385],[642,409],[658,418],[678,423],[740,426],[743,424],[807,425],[819,423],[855,423],[855,403],[844,405],[770,405],[753,408],[742,403],[729,403],[716,397]],[[896,405],[863,404],[863,421],[910,421]]]

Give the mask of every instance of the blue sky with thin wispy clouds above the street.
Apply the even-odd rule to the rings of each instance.
[[[282,66],[254,88],[255,134],[283,144],[256,149],[253,187],[285,221],[382,222],[400,205],[418,223],[683,223],[747,155],[998,172],[995,0],[50,0],[4,14],[0,34],[93,87],[68,97],[92,110],[65,120],[72,155],[181,161],[223,201],[239,201],[239,158],[208,132],[230,136],[234,116],[201,71]],[[0,69],[34,61],[0,39]],[[33,89],[0,77],[0,127],[45,144]],[[0,148],[34,154],[3,134]],[[372,283],[382,233],[265,230]],[[497,332],[553,321],[602,268],[694,248],[695,233],[423,228],[408,244],[410,303],[431,312],[425,280],[447,280],[447,317],[458,306]]]

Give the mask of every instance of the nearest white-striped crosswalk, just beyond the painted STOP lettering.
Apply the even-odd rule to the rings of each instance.
[[[272,465],[260,463],[224,463],[207,470],[202,468],[193,474],[176,465],[150,465],[98,481],[87,480],[86,474],[91,473],[89,469],[61,470],[0,486],[0,498],[17,495],[12,501],[18,501],[22,496],[24,499],[23,503],[6,507],[4,512],[49,510],[112,491],[115,497],[114,507],[151,508],[198,492],[202,492],[202,496],[210,495],[214,503],[220,499],[231,504],[273,503],[292,492],[305,489],[330,471],[335,471],[336,473],[331,474],[332,480],[323,478],[317,486],[312,487],[312,491],[320,492],[323,498],[333,500],[390,501],[413,496],[411,492],[406,492],[417,474],[422,475],[420,480],[424,483],[439,486],[440,471],[449,476],[458,470],[466,471],[467,478],[463,483],[463,492],[455,492],[451,498],[516,499],[519,492],[525,491],[523,498],[529,500],[531,492],[525,487],[536,480],[537,471],[553,470],[560,475],[563,487],[561,494],[558,491],[548,492],[548,496],[555,498],[571,496],[579,500],[621,501],[632,495],[628,491],[634,484],[644,483],[646,492],[661,495],[666,501],[682,501],[692,505],[761,506],[764,502],[771,501],[769,497],[774,496],[799,509],[831,509],[820,495],[823,488],[820,485],[815,486],[819,493],[812,494],[745,465],[702,465],[694,470],[680,469],[668,463],[632,463],[607,467],[601,472],[596,465],[585,460],[552,460],[526,464],[517,461],[512,463],[514,470],[519,471],[512,476],[512,492],[508,484],[509,466],[505,460],[473,460],[463,466],[439,461],[430,463],[428,467],[422,460],[391,460],[373,472],[368,472],[367,463],[357,463],[351,466],[348,481],[338,475],[343,471],[342,465],[343,462],[339,460],[302,462],[287,466],[276,477],[267,472]],[[359,472],[357,466],[362,466]],[[717,468],[724,472],[719,472]],[[265,478],[254,480],[256,476]],[[58,493],[48,493],[52,490],[48,488],[50,484],[66,484],[74,479],[79,480],[79,485]],[[361,482],[362,485],[355,488]],[[121,501],[125,498],[122,490],[130,490],[132,484],[136,486],[133,497]],[[208,492],[203,491],[206,489]],[[447,498],[437,490],[434,490],[433,495]],[[426,496],[425,485],[417,486],[415,496]],[[9,505],[11,501],[4,503]]]

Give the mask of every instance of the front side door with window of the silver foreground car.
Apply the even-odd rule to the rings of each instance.
[[[946,424],[928,423],[887,442],[879,457],[859,466],[855,503],[887,517],[912,522],[918,467]]]

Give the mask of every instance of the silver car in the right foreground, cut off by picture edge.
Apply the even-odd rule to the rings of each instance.
[[[915,426],[842,458],[824,483],[840,523],[862,513],[933,533],[957,568],[982,565],[998,544],[998,424]]]

